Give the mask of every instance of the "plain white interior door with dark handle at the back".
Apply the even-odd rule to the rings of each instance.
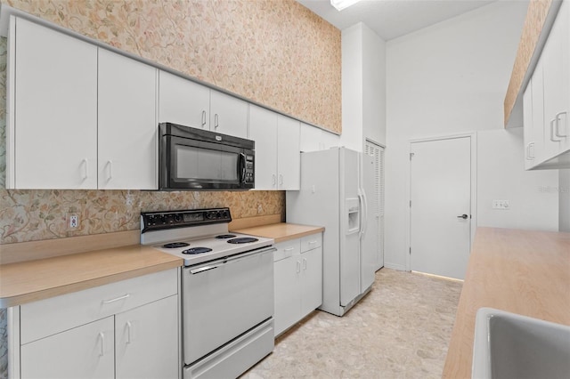
[[[411,143],[411,270],[464,278],[470,250],[471,138]]]

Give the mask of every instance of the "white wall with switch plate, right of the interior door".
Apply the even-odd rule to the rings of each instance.
[[[558,170],[525,171],[523,146],[522,128],[477,133],[477,225],[558,231]]]

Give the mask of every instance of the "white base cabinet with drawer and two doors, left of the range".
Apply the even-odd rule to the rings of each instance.
[[[16,307],[15,377],[179,378],[177,287],[172,269]]]

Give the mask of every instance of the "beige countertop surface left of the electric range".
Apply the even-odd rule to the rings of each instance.
[[[0,307],[69,294],[182,265],[183,260],[175,255],[141,245],[2,264]]]

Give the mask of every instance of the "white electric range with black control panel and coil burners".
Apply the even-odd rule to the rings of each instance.
[[[229,208],[141,214],[141,244],[183,258],[183,377],[236,377],[273,351],[272,238]]]

